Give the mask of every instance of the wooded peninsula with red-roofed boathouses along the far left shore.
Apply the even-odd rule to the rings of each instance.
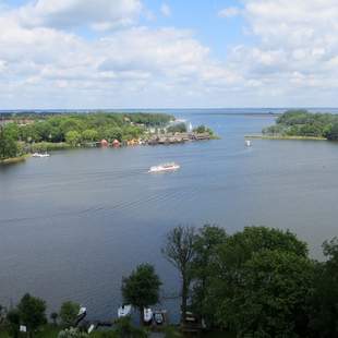
[[[217,138],[166,113],[9,113],[0,117],[0,161],[76,147],[171,145]],[[40,154],[44,153],[44,154]]]

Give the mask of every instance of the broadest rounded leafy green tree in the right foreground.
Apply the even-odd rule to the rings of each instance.
[[[214,325],[239,337],[279,337],[281,327],[306,326],[313,265],[306,244],[290,231],[245,228],[217,246],[209,271],[205,309]]]

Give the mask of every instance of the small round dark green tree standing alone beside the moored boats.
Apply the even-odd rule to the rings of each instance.
[[[129,277],[122,279],[122,295],[125,303],[131,303],[140,311],[143,323],[143,309],[159,301],[161,281],[150,264],[141,264]]]

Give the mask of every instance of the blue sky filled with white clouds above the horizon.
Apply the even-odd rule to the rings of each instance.
[[[337,0],[0,0],[0,109],[338,107]]]

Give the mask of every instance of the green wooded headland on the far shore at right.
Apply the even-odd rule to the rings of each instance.
[[[276,124],[263,130],[264,134],[276,136],[309,136],[338,140],[338,114],[311,113],[307,110],[288,110]]]

